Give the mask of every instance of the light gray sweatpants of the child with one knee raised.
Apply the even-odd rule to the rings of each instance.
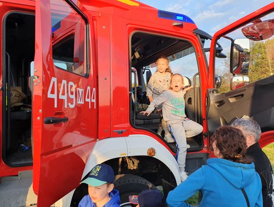
[[[196,136],[202,132],[203,128],[189,119],[184,120],[183,123],[168,124],[168,128],[177,145],[177,162],[180,172],[184,172],[187,153],[186,138]]]

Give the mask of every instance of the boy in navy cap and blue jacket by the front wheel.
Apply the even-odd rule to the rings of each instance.
[[[88,195],[82,198],[78,207],[120,206],[119,191],[113,189],[114,172],[111,166],[104,163],[96,165],[82,183],[88,184]]]

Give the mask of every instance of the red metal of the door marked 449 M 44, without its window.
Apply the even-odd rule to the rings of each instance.
[[[85,163],[97,137],[97,89],[94,94],[95,105],[91,102],[91,107],[86,101],[86,93],[88,87],[91,94],[93,88],[97,87],[93,64],[88,78],[53,65],[50,1],[41,0],[36,3],[35,76],[38,78],[33,86],[33,190],[38,194],[38,206],[49,206],[80,183]],[[78,6],[81,7],[79,4]],[[68,15],[65,18],[71,17]],[[93,31],[92,21],[89,26]],[[67,37],[68,34],[69,32]],[[76,37],[75,42],[77,41]],[[93,45],[89,46],[92,48]],[[91,55],[90,59],[93,59]],[[63,83],[66,88],[67,84],[73,83],[75,93],[78,89],[84,90],[79,95],[83,103],[77,101],[73,107],[68,107],[73,99],[68,98],[66,103],[64,99],[60,99],[60,94],[67,93],[68,97],[73,87],[68,87],[64,94],[60,93]],[[50,85],[52,90],[49,90]],[[57,98],[50,98],[49,93],[56,94]],[[74,95],[78,100],[77,95]],[[45,117],[67,117],[68,121],[45,124]]]

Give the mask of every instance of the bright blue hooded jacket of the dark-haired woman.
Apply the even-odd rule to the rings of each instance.
[[[255,166],[235,163],[220,158],[208,159],[207,165],[193,172],[183,183],[168,193],[166,202],[169,207],[191,206],[185,202],[198,190],[202,192],[199,207],[247,206],[244,188],[250,207],[262,206],[262,186]]]

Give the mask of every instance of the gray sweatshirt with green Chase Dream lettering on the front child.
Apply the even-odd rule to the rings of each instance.
[[[167,124],[182,123],[185,120],[185,100],[186,92],[180,90],[164,91],[160,96],[153,99],[146,111],[152,112],[154,108],[163,104],[163,119]]]

